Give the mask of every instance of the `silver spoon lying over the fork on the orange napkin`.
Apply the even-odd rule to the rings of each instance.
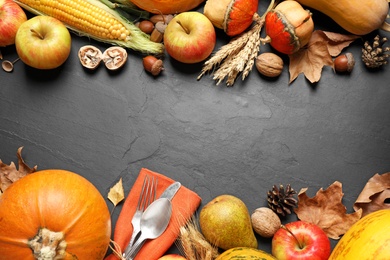
[[[167,228],[172,214],[172,203],[167,198],[155,200],[141,218],[141,235],[133,244],[126,260],[133,260],[147,239],[158,238]]]

